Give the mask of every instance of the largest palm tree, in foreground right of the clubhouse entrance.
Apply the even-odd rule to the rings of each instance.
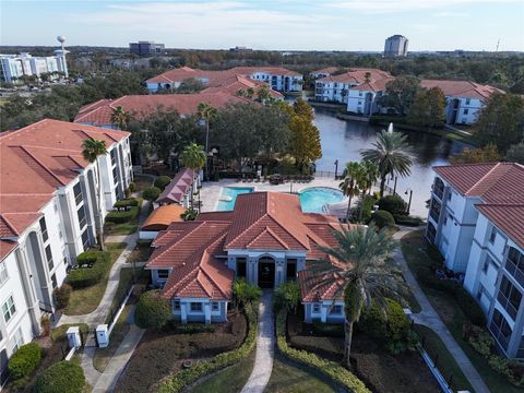
[[[335,285],[333,299],[344,295],[344,362],[349,368],[353,325],[360,319],[362,310],[371,306],[371,300],[385,308],[385,295],[398,297],[397,283],[385,265],[388,255],[397,243],[385,228],[377,231],[372,225],[349,229],[343,226],[333,235],[337,245],[319,249],[336,263],[329,260],[312,262],[308,281],[314,282],[313,290]]]

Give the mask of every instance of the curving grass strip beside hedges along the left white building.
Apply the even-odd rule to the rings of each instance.
[[[126,246],[124,242],[106,243],[106,250],[109,251],[111,255],[110,266],[112,266],[118,257],[120,257]],[[98,284],[92,285],[87,288],[73,290],[64,313],[68,315],[82,315],[94,311],[98,307],[98,303],[106,291],[110,270],[111,267],[107,270],[106,275]]]

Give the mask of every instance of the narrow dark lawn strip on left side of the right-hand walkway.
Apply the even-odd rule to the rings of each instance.
[[[453,391],[468,390],[473,392],[472,385],[438,334],[422,325],[415,325],[415,331],[422,341],[424,348],[431,359],[433,361],[437,360],[437,367],[445,380],[450,381],[450,377],[452,378]]]

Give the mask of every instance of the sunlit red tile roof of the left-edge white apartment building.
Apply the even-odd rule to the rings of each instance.
[[[45,119],[0,134],[0,236],[22,234],[40,217],[57,188],[71,182],[88,163],[82,142],[96,138],[110,146],[129,135],[67,121]],[[11,247],[2,247],[0,259]]]

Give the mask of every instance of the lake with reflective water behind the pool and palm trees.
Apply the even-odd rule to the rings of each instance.
[[[317,170],[334,171],[334,162],[338,159],[338,174],[342,174],[345,163],[360,160],[360,152],[372,147],[377,132],[382,128],[367,122],[341,120],[335,115],[335,111],[330,109],[314,109],[314,123],[320,130],[322,144],[322,158],[317,160]],[[428,212],[426,201],[430,198],[433,182],[431,167],[448,164],[451,155],[460,153],[468,145],[424,132],[403,132],[408,136],[414,164],[409,177],[398,178],[396,192],[407,202],[409,195],[406,195],[405,191],[408,188],[413,189],[410,213],[426,217]],[[392,180],[389,181],[389,186],[393,187]]]

